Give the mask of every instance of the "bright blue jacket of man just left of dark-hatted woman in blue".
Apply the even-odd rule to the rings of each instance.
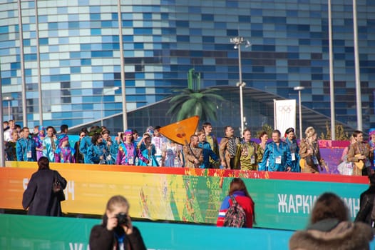
[[[268,160],[268,161],[267,161]],[[280,163],[276,163],[280,160]],[[267,166],[268,162],[268,166]],[[286,171],[287,166],[292,168],[292,156],[288,144],[280,141],[279,146],[273,141],[266,145],[259,171]]]

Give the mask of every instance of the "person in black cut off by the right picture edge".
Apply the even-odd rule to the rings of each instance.
[[[375,227],[371,221],[371,211],[373,210],[374,206],[374,199],[375,199],[375,174],[371,174],[369,176],[370,186],[369,189],[364,191],[361,194],[361,198],[359,200],[359,211],[356,214],[355,221],[362,221],[366,224],[369,224],[372,227]],[[375,214],[373,215],[373,221],[375,219]]]

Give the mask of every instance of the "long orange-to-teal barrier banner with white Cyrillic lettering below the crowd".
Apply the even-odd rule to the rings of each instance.
[[[6,162],[0,168],[0,208],[22,209],[24,189],[36,163]],[[364,176],[296,174],[220,169],[183,169],[88,164],[51,164],[66,178],[66,214],[104,213],[115,194],[130,201],[130,216],[152,220],[215,224],[232,177],[244,179],[255,201],[255,226],[303,229],[314,201],[325,191],[341,196],[351,218],[359,211]]]

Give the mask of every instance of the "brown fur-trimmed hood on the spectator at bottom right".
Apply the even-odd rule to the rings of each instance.
[[[361,222],[338,222],[332,219],[319,222],[319,225],[309,226],[305,231],[296,231],[289,240],[289,249],[366,250],[374,237],[371,227]]]

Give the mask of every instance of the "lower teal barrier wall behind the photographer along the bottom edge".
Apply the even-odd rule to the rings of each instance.
[[[100,223],[99,219],[0,214],[0,249],[88,250],[91,228]],[[251,249],[282,250],[288,249],[292,235],[292,231],[270,229],[231,229],[137,221],[133,224],[140,229],[148,249],[249,249],[251,246]]]

